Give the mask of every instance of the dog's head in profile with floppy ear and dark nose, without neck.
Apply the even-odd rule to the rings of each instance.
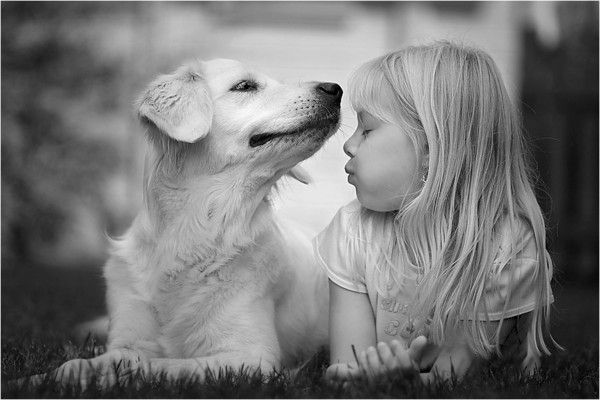
[[[244,164],[275,176],[337,130],[341,96],[334,83],[282,84],[237,61],[213,60],[159,77],[138,114],[159,151],[174,149],[199,174]]]

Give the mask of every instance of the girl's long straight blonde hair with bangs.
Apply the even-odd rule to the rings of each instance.
[[[473,351],[499,352],[503,319],[495,337],[488,337],[482,299],[501,224],[508,224],[515,249],[520,221],[525,221],[538,255],[528,347],[536,355],[549,353],[544,336],[553,265],[544,218],[525,161],[520,119],[492,58],[449,42],[408,47],[362,65],[350,79],[349,93],[357,111],[403,129],[418,165],[427,161],[422,189],[397,213],[382,216],[363,209],[359,217],[372,232],[373,224],[388,220],[381,228],[385,232],[365,239],[380,249],[369,261],[378,271],[378,292],[386,295],[402,286],[405,271],[399,265],[412,268],[421,279],[412,309],[431,318],[434,343],[442,343],[463,320]],[[510,290],[505,310],[509,298]],[[486,320],[478,317],[482,309]]]

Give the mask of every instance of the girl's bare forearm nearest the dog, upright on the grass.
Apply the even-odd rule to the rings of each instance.
[[[329,281],[330,363],[326,377],[344,379],[359,373],[357,353],[375,345],[375,317],[366,293],[353,292]]]

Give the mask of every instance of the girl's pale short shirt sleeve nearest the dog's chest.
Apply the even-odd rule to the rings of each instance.
[[[367,293],[364,265],[357,263],[355,255],[349,254],[351,246],[351,218],[356,211],[354,202],[342,207],[329,225],[313,239],[315,257],[327,276],[344,289]]]

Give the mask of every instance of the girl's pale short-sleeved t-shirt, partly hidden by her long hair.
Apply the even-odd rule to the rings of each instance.
[[[383,298],[376,289],[375,266],[366,263],[364,257],[348,254],[351,250],[346,246],[347,239],[359,234],[357,229],[360,227],[356,221],[360,207],[358,200],[342,207],[331,223],[315,237],[313,246],[319,263],[335,284],[353,292],[368,294],[375,316],[378,342],[393,339],[406,342],[420,334],[426,335],[426,321],[414,318],[408,312],[416,292],[416,273],[406,268],[403,272],[408,279],[403,290],[397,297]],[[508,263],[511,238],[507,231],[500,230],[501,245],[482,299],[490,321],[500,320],[503,315],[504,318],[510,318],[530,312],[537,304],[536,291],[532,290],[538,262],[533,234],[526,224],[520,224],[517,248],[514,249],[516,256]],[[512,291],[505,309],[509,285]],[[479,318],[485,320],[485,313],[480,313]]]

